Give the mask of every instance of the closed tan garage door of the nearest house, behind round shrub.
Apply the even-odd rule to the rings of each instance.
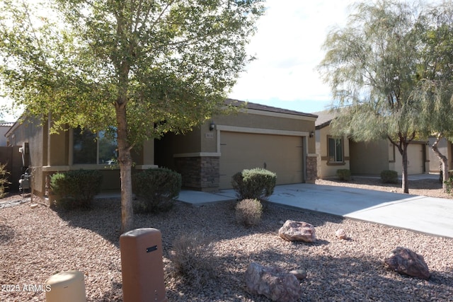
[[[220,132],[220,188],[231,187],[231,176],[250,168],[277,173],[277,184],[303,181],[302,137]]]

